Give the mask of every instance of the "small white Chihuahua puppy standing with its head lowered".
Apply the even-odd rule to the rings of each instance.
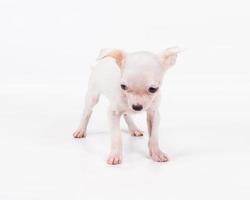
[[[176,62],[178,50],[169,48],[160,54],[140,51],[102,50],[89,79],[85,107],[75,138],[86,137],[86,129],[93,107],[100,94],[110,101],[108,119],[111,132],[111,150],[107,163],[122,162],[120,118],[123,116],[132,136],[142,136],[131,119],[132,114],[145,111],[149,133],[149,153],[157,162],[166,162],[167,155],[159,148],[159,101],[163,76]]]

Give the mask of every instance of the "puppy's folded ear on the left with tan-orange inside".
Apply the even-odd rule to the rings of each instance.
[[[126,53],[119,49],[102,49],[97,59],[102,59],[105,57],[114,58],[116,64],[121,68],[124,63]]]

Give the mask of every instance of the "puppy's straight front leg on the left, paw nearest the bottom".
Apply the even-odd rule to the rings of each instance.
[[[110,165],[117,165],[122,162],[122,138],[120,131],[121,114],[109,110],[108,119],[111,132],[111,151],[108,156],[107,163]]]

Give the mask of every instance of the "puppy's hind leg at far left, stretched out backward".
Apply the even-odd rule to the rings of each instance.
[[[86,130],[89,122],[89,118],[92,114],[94,106],[99,100],[99,92],[94,87],[89,87],[86,97],[85,97],[85,106],[83,110],[82,119],[78,129],[74,132],[73,136],[75,138],[86,137]]]

